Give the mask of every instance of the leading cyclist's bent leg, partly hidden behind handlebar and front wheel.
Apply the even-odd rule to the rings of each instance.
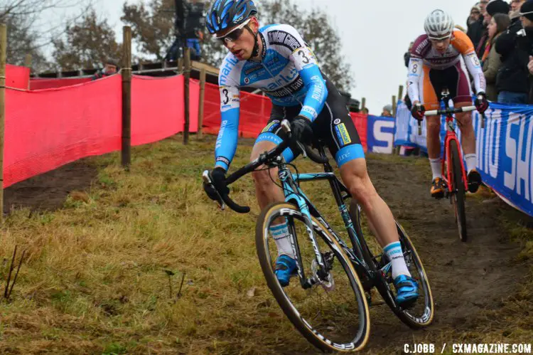
[[[262,132],[257,137],[257,140],[252,149],[252,156],[250,160],[257,159],[259,154],[273,149],[284,138],[284,133],[281,131],[280,122],[287,118],[293,110],[288,110],[286,107],[273,106],[271,118],[266,124]],[[286,149],[283,153],[286,161],[294,159],[294,154],[291,149]],[[278,169],[261,170],[252,172],[252,179],[254,180],[257,202],[259,207],[263,209],[269,203],[284,201],[285,196],[283,191],[277,186],[274,181],[278,179]],[[276,225],[270,228],[270,233],[276,247],[278,248],[278,258],[276,260],[276,277],[282,286],[289,285],[289,280],[296,272],[296,262],[294,260],[294,250],[292,248],[289,228],[283,218],[276,220]]]

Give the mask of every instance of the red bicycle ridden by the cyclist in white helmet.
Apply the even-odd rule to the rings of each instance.
[[[475,110],[475,106],[451,108],[448,103],[450,92],[447,88],[443,88],[441,96],[441,102],[444,108],[441,110],[426,111],[426,116],[446,115],[446,137],[444,138],[444,157],[442,159],[442,176],[445,184],[444,197],[450,198],[450,202],[453,204],[459,238],[465,242],[468,235],[466,231],[465,213],[465,194],[468,190],[468,179],[466,177],[463,154],[461,154],[461,149],[459,149],[460,143],[457,139],[456,130],[453,127],[453,119],[454,114],[473,111]],[[485,114],[482,113],[481,117],[481,128],[485,128]]]

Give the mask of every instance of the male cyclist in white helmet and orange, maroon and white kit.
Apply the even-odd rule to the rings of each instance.
[[[485,112],[488,109],[485,76],[470,38],[454,29],[451,16],[442,10],[435,10],[426,17],[424,29],[426,34],[416,38],[409,59],[407,92],[413,103],[413,117],[422,120],[426,109],[437,109],[442,88],[448,88],[455,107],[472,105],[468,72],[473,77],[475,92],[483,97],[483,100],[475,100],[475,107],[479,112]],[[461,128],[468,190],[475,192],[481,184],[481,176],[475,169],[477,158],[472,116],[470,112],[461,112],[456,115],[456,120]],[[440,132],[440,117],[427,117],[427,146],[433,172],[431,196],[434,198],[442,198],[445,188],[441,176]]]

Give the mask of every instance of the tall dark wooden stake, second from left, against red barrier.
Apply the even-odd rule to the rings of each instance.
[[[122,27],[122,166],[131,164],[131,27]]]

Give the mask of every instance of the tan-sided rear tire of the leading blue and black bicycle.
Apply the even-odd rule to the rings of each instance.
[[[360,244],[363,250],[363,257],[365,261],[369,263],[370,270],[377,270],[380,265],[376,265],[377,259],[375,255],[372,254],[372,251],[367,245],[366,238],[362,232],[362,218],[360,213],[360,207],[357,206],[357,213],[354,213],[350,209],[350,217],[352,218],[352,223],[357,233],[357,238],[360,240]],[[416,271],[419,274],[419,287],[424,290],[424,314],[421,314],[420,317],[416,317],[410,313],[409,309],[402,309],[398,307],[394,300],[394,293],[392,292],[392,287],[387,282],[379,282],[379,285],[376,285],[376,288],[380,295],[382,295],[383,300],[389,308],[397,315],[397,317],[411,329],[420,329],[429,326],[433,322],[435,306],[433,300],[433,294],[431,293],[431,287],[429,285],[429,280],[426,275],[426,270],[422,264],[419,254],[416,252],[409,235],[405,232],[404,228],[398,223],[395,222],[397,226],[399,241],[402,245],[402,250],[404,254],[411,256],[411,262],[416,265]],[[420,301],[417,301],[420,302]]]

